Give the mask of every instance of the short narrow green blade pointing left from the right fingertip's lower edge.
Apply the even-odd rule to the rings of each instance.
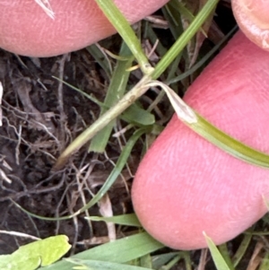
[[[113,222],[119,225],[141,227],[141,224],[134,213],[126,213],[111,217],[90,216],[85,217],[85,219],[89,219],[93,222]]]

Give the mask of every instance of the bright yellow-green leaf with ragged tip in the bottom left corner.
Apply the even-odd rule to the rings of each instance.
[[[39,266],[49,266],[71,248],[65,235],[37,240],[18,248],[11,255],[0,257],[1,270],[34,270]]]

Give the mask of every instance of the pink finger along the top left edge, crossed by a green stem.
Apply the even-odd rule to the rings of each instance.
[[[168,0],[115,0],[129,22]],[[94,0],[49,0],[55,20],[35,0],[0,1],[0,48],[29,57],[52,57],[84,48],[116,32]]]

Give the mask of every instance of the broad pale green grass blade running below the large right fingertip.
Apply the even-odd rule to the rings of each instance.
[[[78,259],[95,259],[112,263],[123,264],[143,257],[151,252],[154,252],[163,245],[146,233],[138,233],[121,240],[115,240],[107,244],[103,244],[97,248],[78,253],[71,258]],[[54,265],[42,268],[42,270],[70,270],[73,264],[62,260]]]

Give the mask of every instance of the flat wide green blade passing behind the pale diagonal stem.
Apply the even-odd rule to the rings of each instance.
[[[134,57],[132,56],[126,43],[123,42],[120,53],[120,57],[127,58],[128,60],[122,61],[117,60],[117,65],[113,72],[111,81],[109,83],[108,92],[105,99],[105,106],[110,108],[120,100],[125,91],[126,85],[129,79],[128,68],[131,67]],[[101,108],[100,115],[103,115],[108,109]],[[111,135],[113,126],[116,124],[116,119],[113,119],[107,126],[105,126],[97,135],[95,135],[91,140],[91,145],[89,151],[93,152],[104,152],[108,144],[108,139]]]

